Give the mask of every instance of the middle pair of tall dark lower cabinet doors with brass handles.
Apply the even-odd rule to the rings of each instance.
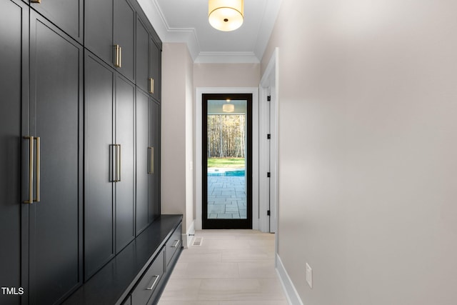
[[[86,53],[85,278],[135,237],[135,87]]]

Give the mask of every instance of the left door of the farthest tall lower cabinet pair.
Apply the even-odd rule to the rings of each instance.
[[[149,139],[149,96],[136,90],[136,234],[149,224],[149,175],[151,173]]]

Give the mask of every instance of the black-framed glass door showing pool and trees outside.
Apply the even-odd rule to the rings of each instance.
[[[252,229],[252,94],[202,104],[203,229]]]

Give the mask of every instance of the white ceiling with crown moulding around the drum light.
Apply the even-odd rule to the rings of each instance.
[[[208,21],[208,0],[138,0],[163,42],[184,42],[195,62],[256,63],[265,51],[281,0],[244,0],[244,22],[218,31]]]

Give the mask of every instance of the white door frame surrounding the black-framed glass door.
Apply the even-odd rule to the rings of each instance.
[[[195,96],[195,229],[202,228],[203,194],[201,189],[202,159],[202,94],[252,94],[252,229],[258,230],[258,88],[256,87],[197,87]]]

